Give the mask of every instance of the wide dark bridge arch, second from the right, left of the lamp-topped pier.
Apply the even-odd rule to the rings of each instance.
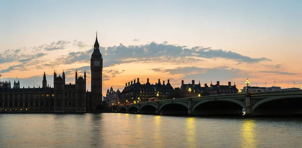
[[[202,106],[207,104],[206,106]],[[192,108],[193,115],[242,115],[245,104],[233,99],[203,100]]]

